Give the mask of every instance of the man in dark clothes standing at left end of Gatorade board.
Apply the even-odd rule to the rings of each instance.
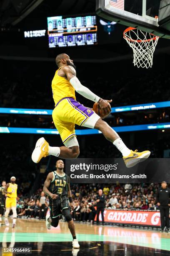
[[[104,225],[104,210],[105,210],[105,195],[102,193],[102,189],[99,189],[98,195],[96,196],[96,206],[97,206],[97,224],[99,224],[99,214],[102,215],[102,225]]]

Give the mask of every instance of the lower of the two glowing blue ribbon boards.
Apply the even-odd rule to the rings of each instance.
[[[146,131],[155,129],[168,129],[170,123],[162,124],[145,124],[145,125],[129,125],[112,127],[116,132],[130,132],[130,131]],[[18,127],[0,127],[0,133],[33,133],[33,134],[50,134],[59,135],[56,129],[43,129],[43,128],[18,128]],[[77,129],[76,135],[92,135],[100,134],[101,132],[96,129]]]

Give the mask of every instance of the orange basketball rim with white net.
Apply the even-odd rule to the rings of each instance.
[[[147,69],[152,67],[153,53],[158,43],[159,36],[129,27],[123,32],[123,38],[125,38],[133,49],[134,66]]]

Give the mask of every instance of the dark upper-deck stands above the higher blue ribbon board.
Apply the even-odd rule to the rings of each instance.
[[[5,72],[3,76],[1,75],[0,107],[54,108],[51,81],[55,74],[55,66],[50,68],[47,63],[14,62],[11,67],[9,65],[7,67],[10,69],[8,72],[13,75],[5,75]],[[95,68],[97,69],[97,65]],[[99,68],[101,69],[100,65]],[[126,66],[125,68],[127,69]],[[111,73],[107,76],[105,74],[100,76],[98,73],[96,76],[84,71],[84,66],[79,65],[77,77],[80,78],[82,84],[100,97],[112,99],[112,107],[170,100],[168,69],[161,72],[157,69],[146,70],[145,74],[142,70],[135,73],[130,70],[122,76],[120,76],[120,71],[115,70],[114,77]],[[107,66],[103,67],[102,72],[107,71]],[[77,100],[92,107],[92,102],[78,94]]]

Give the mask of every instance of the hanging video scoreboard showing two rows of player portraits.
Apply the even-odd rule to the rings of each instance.
[[[49,48],[97,44],[96,16],[47,18]]]

